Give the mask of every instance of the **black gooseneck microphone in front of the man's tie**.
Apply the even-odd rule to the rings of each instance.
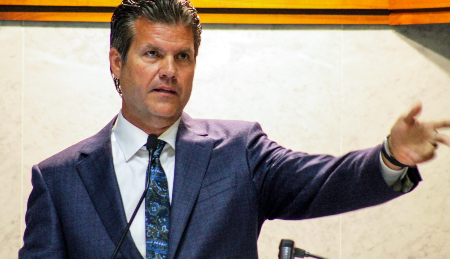
[[[135,219],[136,213],[139,211],[139,207],[141,206],[142,202],[144,201],[145,194],[148,191],[148,187],[150,186],[150,168],[152,167],[152,156],[153,152],[158,146],[158,136],[156,134],[150,134],[147,137],[147,144],[145,144],[145,148],[148,150],[148,167],[147,167],[147,174],[146,174],[146,183],[145,183],[145,189],[144,193],[142,193],[141,198],[139,199],[138,205],[135,208],[135,211],[133,212],[133,215],[131,215],[130,222],[126,224],[125,231],[122,234],[122,237],[120,238],[119,243],[116,246],[116,250],[114,250],[114,253],[112,254],[111,259],[115,259],[117,256],[117,253],[119,252],[120,247],[122,246],[123,241],[125,240],[126,234],[128,233],[128,230],[130,230],[131,223],[133,223],[133,220]]]

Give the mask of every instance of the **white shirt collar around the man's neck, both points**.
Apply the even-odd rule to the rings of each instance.
[[[166,141],[166,143],[174,150],[180,120],[181,118],[158,137],[158,139]],[[119,115],[117,116],[112,133],[125,155],[126,161],[130,160],[130,158],[136,154],[145,143],[147,143],[148,134],[127,121],[122,115],[122,110],[120,110]],[[167,148],[168,145],[166,145],[165,148]]]

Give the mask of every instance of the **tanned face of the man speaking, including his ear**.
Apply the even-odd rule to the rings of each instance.
[[[139,18],[126,63],[115,48],[110,51],[110,61],[120,79],[126,119],[139,127],[155,119],[173,123],[180,118],[189,101],[195,70],[190,27]]]

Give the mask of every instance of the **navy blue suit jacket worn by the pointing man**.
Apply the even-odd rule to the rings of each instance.
[[[112,162],[114,120],[33,167],[19,258],[111,257],[126,226]],[[308,155],[269,140],[258,123],[187,114],[175,145],[169,259],[257,258],[266,219],[338,214],[401,195],[383,180],[380,146]],[[130,233],[117,258],[142,258]]]

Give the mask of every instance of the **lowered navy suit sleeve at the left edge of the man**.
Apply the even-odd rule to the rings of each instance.
[[[58,213],[37,165],[31,170],[31,183],[33,189],[25,215],[27,228],[23,236],[23,247],[19,250],[19,259],[67,258]]]

